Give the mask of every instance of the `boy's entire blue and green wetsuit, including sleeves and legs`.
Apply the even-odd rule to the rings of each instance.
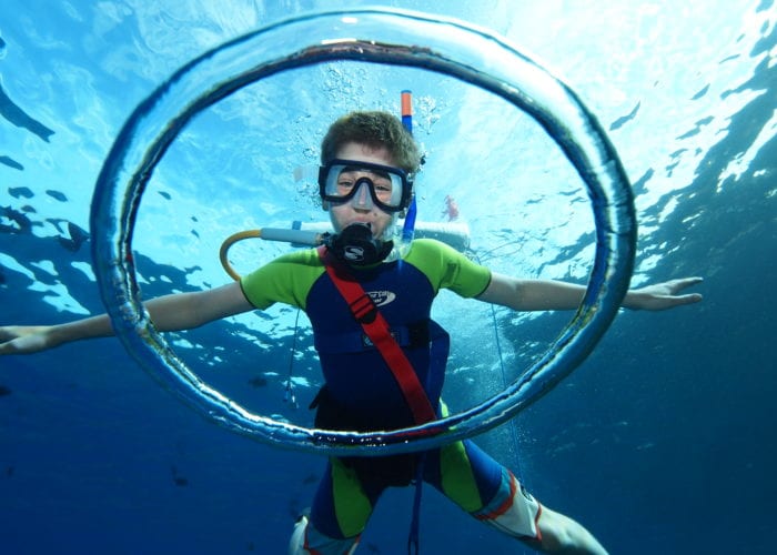
[[[440,407],[447,335],[431,321],[441,289],[472,297],[491,273],[447,245],[414,241],[403,260],[352,274],[377,304],[392,334]],[[283,255],[243,278],[246,299],[258,309],[283,302],[311,320],[325,385],[316,397],[316,426],[333,430],[394,430],[412,425],[405,397],[381,354],[364,336],[347,303],[326,274],[316,251]],[[381,493],[406,485],[418,456],[349,457],[329,461],[297,552],[343,554],[359,541]],[[516,537],[537,537],[539,505],[512,473],[472,442],[426,452],[424,480],[473,516]],[[304,551],[303,551],[304,549]]]

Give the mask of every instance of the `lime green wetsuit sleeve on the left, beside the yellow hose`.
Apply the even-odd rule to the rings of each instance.
[[[240,280],[245,297],[259,310],[274,303],[305,309],[311,286],[324,272],[315,250],[294,251]]]

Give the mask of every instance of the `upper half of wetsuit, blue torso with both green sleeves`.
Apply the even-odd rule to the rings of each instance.
[[[442,243],[425,240],[414,241],[403,260],[354,269],[352,275],[389,322],[436,406],[447,350],[430,349],[432,339],[445,340],[430,321],[432,302],[443,287],[463,296],[480,294],[488,284],[488,271]],[[282,256],[244,278],[242,285],[246,297],[260,309],[286,302],[305,310],[321,360],[326,401],[336,404],[343,415],[342,422],[330,420],[330,424],[343,430],[414,424],[391,370],[366,341],[315,251]],[[433,361],[435,353],[437,359]]]

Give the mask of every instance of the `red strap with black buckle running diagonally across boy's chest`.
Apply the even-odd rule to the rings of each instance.
[[[349,275],[344,264],[332,256],[325,246],[319,249],[319,256],[326,268],[326,273],[332,279],[340,294],[351,307],[356,321],[362,325],[364,333],[383,356],[389,365],[396,383],[400,385],[405,401],[413,412],[416,424],[436,420],[432,403],[426,395],[413,365],[407,360],[402,347],[391,334],[391,327],[377,310],[370,295],[364,292],[362,285]]]

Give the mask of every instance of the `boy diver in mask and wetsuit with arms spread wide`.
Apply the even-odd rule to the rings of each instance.
[[[158,330],[196,327],[276,302],[299,306],[311,320],[325,382],[314,401],[316,426],[396,430],[445,414],[440,394],[447,334],[430,319],[441,289],[516,311],[579,305],[584,286],[492,273],[433,240],[394,241],[396,219],[411,201],[421,157],[392,114],[354,112],[341,118],[323,140],[321,161],[320,193],[334,229],[326,245],[282,255],[240,283],[151,300],[145,307]],[[342,289],[354,282],[361,286],[356,296],[371,300],[364,301],[361,313],[350,307]],[[623,304],[665,310],[696,303],[699,294],[679,292],[699,282],[689,278],[632,290]],[[390,346],[373,341],[369,327],[375,321],[391,329]],[[34,353],[112,334],[107,315],[53,326],[4,326],[0,354]],[[404,362],[387,362],[392,357]],[[403,364],[404,370],[397,370]],[[407,381],[411,385],[403,384]],[[423,454],[330,457],[310,515],[294,528],[289,553],[353,553],[382,492],[415,477],[535,549],[606,553],[582,525],[541,505],[507,468],[468,440]]]

